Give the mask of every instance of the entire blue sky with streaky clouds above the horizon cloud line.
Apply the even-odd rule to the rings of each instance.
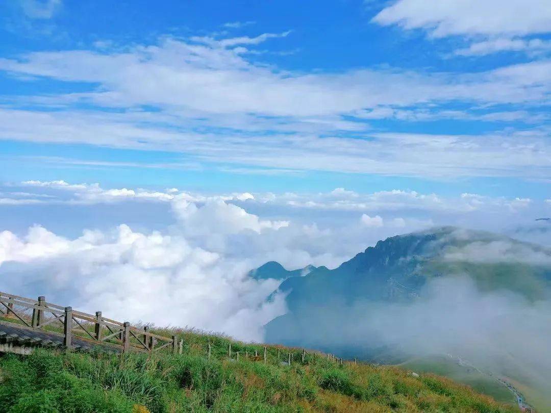
[[[0,179],[548,198],[548,2],[424,3],[4,3]]]

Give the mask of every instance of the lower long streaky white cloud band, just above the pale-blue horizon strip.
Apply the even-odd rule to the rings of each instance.
[[[534,81],[538,78],[536,73],[532,77]],[[541,128],[483,135],[369,133],[370,139],[247,133],[249,137],[244,139],[239,133],[175,133],[162,126],[141,129],[133,119],[122,122],[116,118],[118,115],[114,116],[0,110],[0,136],[33,142],[182,151],[202,161],[255,165],[276,171],[544,178],[551,159],[549,133]],[[41,124],[40,134],[32,127],[36,123]]]

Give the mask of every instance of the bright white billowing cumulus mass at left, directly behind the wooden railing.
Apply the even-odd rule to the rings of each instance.
[[[72,240],[40,226],[23,238],[4,231],[3,289],[45,294],[52,302],[89,312],[101,309],[115,319],[190,325],[261,340],[262,325],[285,310],[283,297],[264,302],[277,281],[245,278],[258,265],[254,257],[208,251],[186,235],[190,226],[197,229],[213,221],[223,227],[211,225],[209,231],[222,236],[266,224],[240,214],[234,205],[223,205],[193,208],[185,216],[190,225],[171,235],[135,232],[127,225],[110,232],[85,230]]]

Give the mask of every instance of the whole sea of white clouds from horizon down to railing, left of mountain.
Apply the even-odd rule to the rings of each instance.
[[[64,181],[5,184],[0,204],[1,290],[45,295],[118,320],[257,341],[263,325],[287,311],[283,294],[266,300],[277,281],[247,276],[268,260],[288,269],[335,268],[397,233],[463,222],[495,230],[504,219],[522,222],[549,208],[530,199],[473,194],[447,199],[338,188],[310,195],[206,195]],[[516,224],[509,228],[518,230]],[[538,233],[549,238],[549,232]],[[507,252],[503,243],[492,247],[494,256]],[[468,248],[449,256],[489,259],[477,255],[477,246]]]

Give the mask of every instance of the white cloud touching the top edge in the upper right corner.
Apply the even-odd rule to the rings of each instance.
[[[424,29],[434,37],[450,35],[532,34],[549,32],[547,0],[398,0],[373,20],[381,25]]]

